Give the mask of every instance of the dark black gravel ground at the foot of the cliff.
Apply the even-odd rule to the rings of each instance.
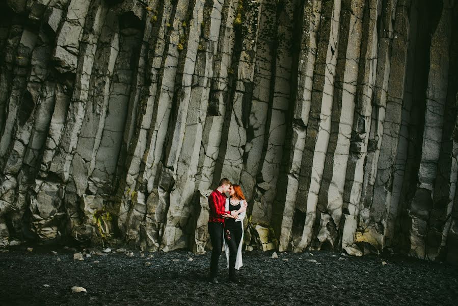
[[[400,256],[245,252],[233,284],[223,253],[213,285],[209,252],[93,253],[82,261],[75,252],[84,250],[0,253],[0,305],[456,305],[458,298],[457,268]]]

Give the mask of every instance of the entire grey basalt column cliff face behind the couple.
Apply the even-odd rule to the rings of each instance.
[[[0,4],[0,240],[458,263],[454,0]]]

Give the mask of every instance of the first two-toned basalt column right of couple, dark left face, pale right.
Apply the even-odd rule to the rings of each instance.
[[[318,193],[331,130],[340,9],[340,0],[322,2],[309,124],[296,200],[296,207],[305,211],[306,217],[305,221],[300,219],[296,221],[304,222],[304,227],[302,233],[298,233],[297,237],[292,237],[294,251],[302,251],[312,241]],[[293,219],[293,226],[294,221]]]

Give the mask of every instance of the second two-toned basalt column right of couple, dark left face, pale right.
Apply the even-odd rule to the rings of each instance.
[[[343,187],[355,110],[363,9],[364,5],[359,1],[342,1],[332,123],[318,194],[318,248],[325,241],[334,246],[338,240],[337,230],[342,215]]]

